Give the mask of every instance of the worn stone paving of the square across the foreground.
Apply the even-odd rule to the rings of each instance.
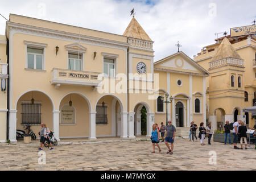
[[[234,150],[233,146],[213,142],[176,139],[174,154],[151,154],[150,141],[117,140],[67,144],[46,151],[46,165],[38,164],[35,145],[1,145],[0,170],[256,170],[256,150]],[[254,146],[253,146],[254,148]],[[209,152],[216,151],[217,164],[209,165]],[[235,160],[234,160],[235,159]]]

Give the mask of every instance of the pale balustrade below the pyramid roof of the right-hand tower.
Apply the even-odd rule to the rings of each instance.
[[[225,67],[225,66],[233,66],[233,67],[244,67],[244,61],[240,59],[234,59],[232,57],[228,57],[225,59],[217,60],[217,61],[212,61],[209,63],[209,69],[214,69],[214,68],[220,68],[220,67]]]

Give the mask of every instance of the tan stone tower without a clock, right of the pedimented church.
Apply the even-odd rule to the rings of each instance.
[[[224,38],[216,54],[209,62],[209,121],[214,129],[222,127],[225,121],[236,122],[243,119],[244,106],[243,73],[244,60]]]

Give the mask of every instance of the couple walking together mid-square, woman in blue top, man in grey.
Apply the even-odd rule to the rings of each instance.
[[[155,153],[155,145],[159,148],[159,153],[162,151],[159,142],[160,142],[160,133],[162,137],[162,142],[166,141],[166,146],[168,148],[167,154],[173,154],[174,152],[174,138],[175,138],[176,128],[172,125],[172,121],[168,121],[168,125],[165,126],[164,123],[161,123],[161,127],[159,129],[158,124],[152,125],[152,133],[151,133],[151,142],[153,151],[151,153]],[[171,143],[171,148],[168,143]]]

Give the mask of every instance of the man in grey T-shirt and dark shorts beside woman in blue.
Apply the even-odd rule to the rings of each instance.
[[[172,121],[168,121],[168,125],[166,126],[166,146],[168,148],[167,154],[174,153],[174,138],[175,138],[175,126],[172,125]],[[171,148],[168,143],[171,143]]]

